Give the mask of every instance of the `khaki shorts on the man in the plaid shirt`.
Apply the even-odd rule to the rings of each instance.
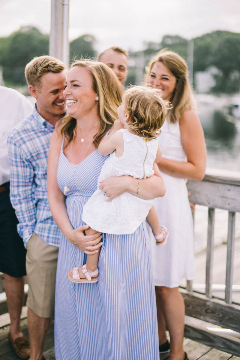
[[[58,247],[47,244],[33,233],[27,242],[27,306],[40,318],[54,315]]]

